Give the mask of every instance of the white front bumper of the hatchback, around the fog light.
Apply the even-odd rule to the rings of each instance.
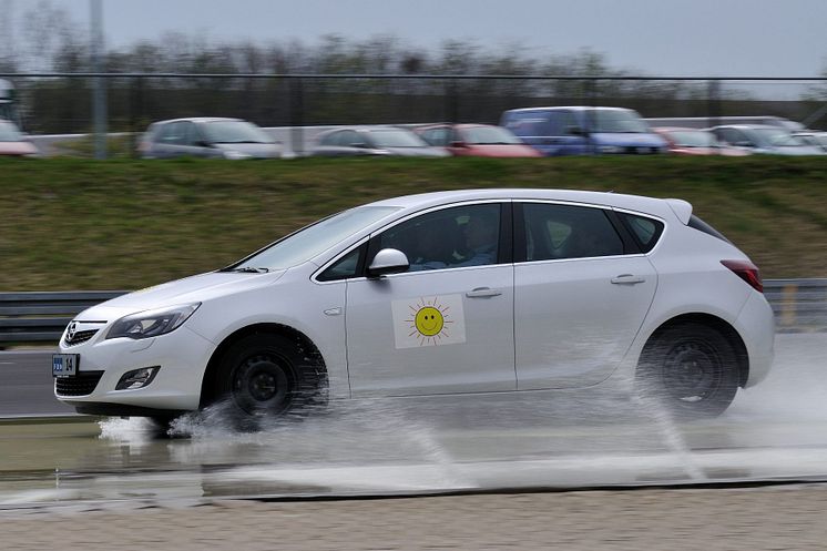
[[[55,381],[58,400],[81,414],[166,415],[198,408],[201,386],[215,345],[182,326],[160,337],[133,340],[104,339],[108,327],[90,340],[68,346],[61,340],[61,354],[79,354],[78,381]],[[115,390],[127,371],[159,366],[155,378],[145,387]],[[96,384],[91,380],[98,378]],[[81,379],[90,378],[86,382]],[[75,384],[76,382],[76,384]],[[67,390],[70,385],[71,391]]]

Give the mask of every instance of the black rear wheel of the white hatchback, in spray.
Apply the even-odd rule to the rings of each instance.
[[[636,379],[639,391],[680,418],[717,417],[738,390],[737,355],[709,326],[674,325],[646,345]]]

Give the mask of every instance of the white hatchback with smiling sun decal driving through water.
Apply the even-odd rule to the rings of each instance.
[[[773,340],[757,268],[688,203],[479,190],[351,208],[89,308],[52,364],[83,414],[637,381],[696,417],[760,381]]]

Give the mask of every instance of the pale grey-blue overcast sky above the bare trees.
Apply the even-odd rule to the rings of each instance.
[[[52,0],[76,21],[89,0]],[[18,12],[34,0],[13,0]],[[827,0],[104,0],[110,47],[167,30],[314,42],[394,34],[423,48],[476,40],[533,54],[590,48],[660,75],[816,76],[827,69]]]

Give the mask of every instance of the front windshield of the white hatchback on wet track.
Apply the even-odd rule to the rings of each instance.
[[[395,211],[398,207],[360,206],[344,211],[277,241],[226,271],[266,272],[296,266]]]

